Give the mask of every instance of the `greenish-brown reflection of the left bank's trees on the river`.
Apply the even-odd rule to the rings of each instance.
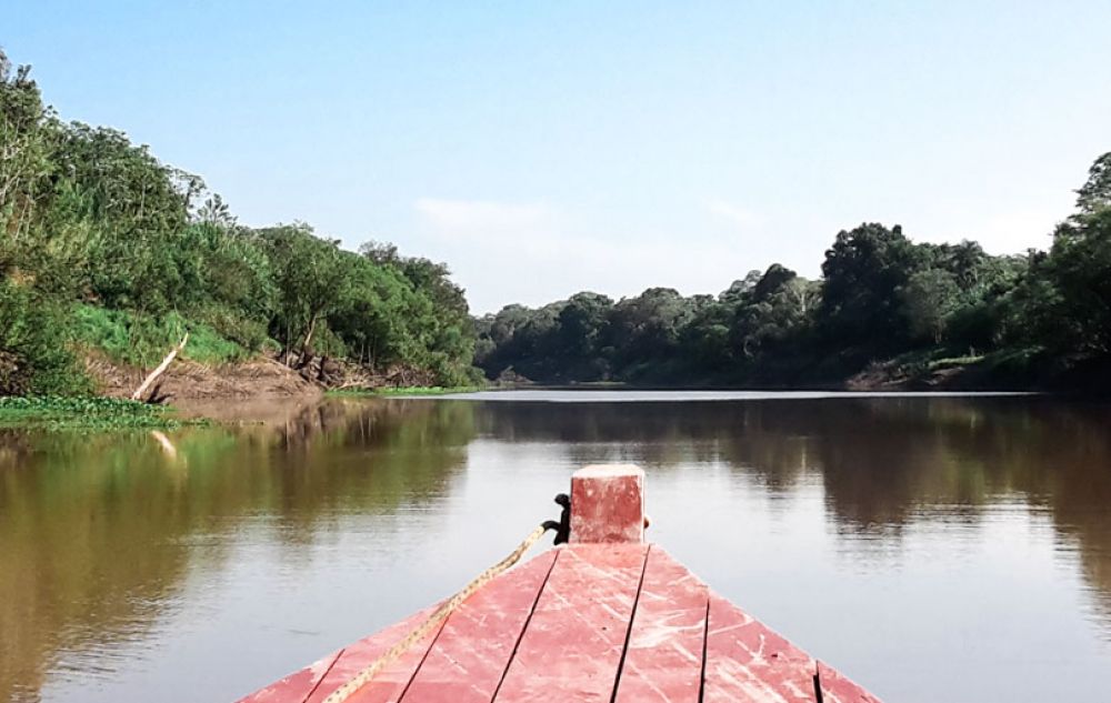
[[[0,430],[0,700],[51,667],[98,666],[176,606],[221,533],[264,516],[302,546],[337,515],[444,491],[473,435],[464,406],[328,402],[280,423],[172,433]],[[211,570],[209,570],[211,571]],[[59,661],[58,653],[66,652]]]

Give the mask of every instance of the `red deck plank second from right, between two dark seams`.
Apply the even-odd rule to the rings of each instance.
[[[814,703],[815,666],[809,654],[710,594],[703,701]]]

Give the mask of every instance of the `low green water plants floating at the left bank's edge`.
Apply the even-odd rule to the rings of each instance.
[[[173,430],[194,424],[208,421],[182,420],[168,408],[118,398],[0,398],[0,426],[7,428]]]

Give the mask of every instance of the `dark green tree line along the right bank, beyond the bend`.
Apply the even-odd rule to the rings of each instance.
[[[838,233],[821,280],[778,263],[717,297],[582,292],[478,320],[490,378],[546,383],[799,384],[894,359],[911,375],[979,364],[1029,382],[1111,355],[1111,153],[1092,165],[1049,251],[914,243],[900,227]],[[1102,364],[1102,366],[1101,366]]]

